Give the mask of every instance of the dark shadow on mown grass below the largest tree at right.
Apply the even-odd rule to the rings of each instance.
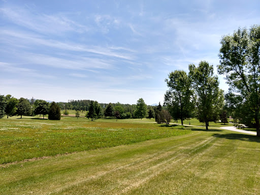
[[[213,134],[212,136],[217,138],[224,138],[228,140],[242,140],[242,141],[260,143],[260,138],[253,135],[231,133],[231,134]]]

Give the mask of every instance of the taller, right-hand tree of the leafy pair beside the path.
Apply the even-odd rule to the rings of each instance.
[[[197,118],[205,122],[208,129],[209,121],[216,122],[220,108],[223,107],[223,90],[218,87],[219,82],[217,76],[213,75],[213,66],[209,66],[206,61],[201,61],[198,67],[189,64],[189,77]]]

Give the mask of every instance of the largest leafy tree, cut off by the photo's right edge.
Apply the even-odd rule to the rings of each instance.
[[[254,124],[260,137],[260,25],[238,28],[220,44],[218,73],[226,76],[230,101],[240,100],[234,112]]]

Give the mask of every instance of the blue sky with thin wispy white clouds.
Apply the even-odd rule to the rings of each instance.
[[[250,0],[0,0],[0,94],[163,103],[170,72],[206,60],[217,74],[221,37],[259,24],[259,10]]]

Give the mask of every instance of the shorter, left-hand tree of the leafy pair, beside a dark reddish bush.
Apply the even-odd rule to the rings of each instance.
[[[183,120],[191,117],[191,80],[185,71],[180,70],[171,72],[168,76],[169,80],[165,80],[169,87],[165,94],[165,105],[173,119],[180,119],[183,125]]]

